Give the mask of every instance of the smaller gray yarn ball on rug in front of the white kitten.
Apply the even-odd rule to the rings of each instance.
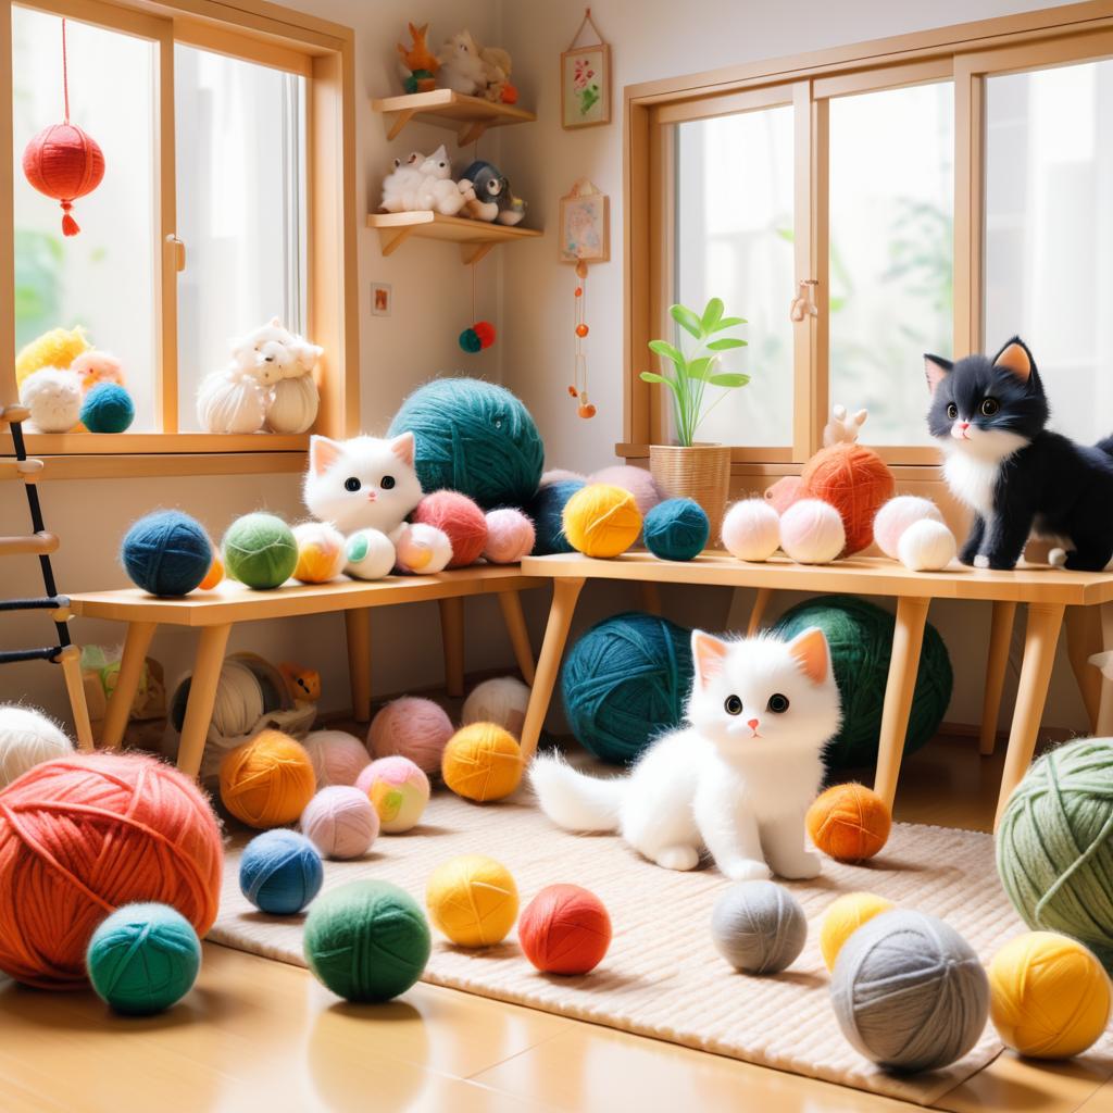
[[[711,938],[736,969],[779,974],[804,949],[808,920],[800,902],[782,886],[742,881],[715,903]]]

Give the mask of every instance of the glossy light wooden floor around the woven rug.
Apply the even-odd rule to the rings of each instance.
[[[938,739],[907,761],[897,818],[987,829],[999,770],[973,739]],[[303,969],[213,945],[186,1002],[151,1020],[0,982],[4,1113],[912,1107],[433,986],[355,1008]],[[1006,1053],[937,1107],[1111,1113],[1113,1084]]]

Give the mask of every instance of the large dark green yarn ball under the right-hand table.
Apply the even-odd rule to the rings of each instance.
[[[827,636],[835,682],[843,701],[843,727],[826,754],[828,764],[836,769],[877,761],[895,624],[888,611],[863,599],[826,595],[791,608],[776,626],[776,632],[785,638],[795,638],[809,627],[819,627]],[[905,754],[918,750],[939,729],[953,686],[947,647],[929,624],[924,629]]]

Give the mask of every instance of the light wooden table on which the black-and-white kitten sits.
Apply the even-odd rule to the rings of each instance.
[[[552,609],[522,729],[522,749],[528,759],[536,749],[575,602],[588,580],[756,588],[756,617],[760,617],[769,593],[775,590],[895,598],[896,627],[874,782],[877,792],[890,806],[900,772],[924,626],[933,599],[984,600],[993,603],[982,716],[983,752],[991,752],[993,749],[1016,605],[1027,603],[1024,660],[997,801],[998,817],[1009,794],[1032,761],[1065,609],[1100,607],[1105,646],[1113,649],[1113,574],[1107,572],[1067,572],[1041,568],[995,572],[968,569],[959,564],[942,572],[910,572],[880,556],[807,565],[794,564],[784,556],[774,558],[764,564],[747,563],[726,553],[706,553],[693,561],[680,563],[661,561],[649,553],[638,552],[626,553],[614,560],[592,560],[579,553],[528,556],[522,561],[522,572],[525,575],[544,577],[553,582]],[[755,624],[751,622],[751,626]],[[1113,732],[1113,682],[1107,681],[1101,693],[1097,733],[1109,732]]]

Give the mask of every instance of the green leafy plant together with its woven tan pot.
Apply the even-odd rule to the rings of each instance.
[[[683,305],[669,308],[672,319],[692,337],[686,343],[677,333],[677,345],[668,341],[650,341],[649,348],[672,365],[672,374],[643,371],[646,383],[659,383],[671,394],[676,444],[651,444],[649,466],[653,479],[667,498],[695,499],[711,523],[711,535],[718,536],[719,525],[730,491],[730,447],[722,444],[700,444],[696,431],[711,408],[726,397],[720,395],[705,407],[703,396],[708,386],[737,390],[745,386],[749,375],[738,372],[716,371],[720,353],[746,346],[746,341],[723,336],[728,329],[745,325],[742,317],[725,317],[721,298],[712,297],[702,314]],[[717,337],[717,338],[713,338]]]

